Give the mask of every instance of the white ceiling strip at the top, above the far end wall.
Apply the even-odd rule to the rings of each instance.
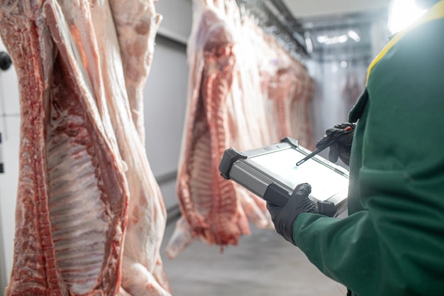
[[[296,18],[388,9],[390,0],[283,0]]]

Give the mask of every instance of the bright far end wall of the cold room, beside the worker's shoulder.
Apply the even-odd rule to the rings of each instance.
[[[327,128],[348,121],[350,109],[364,91],[368,66],[388,40],[387,9],[301,21],[312,40],[307,67],[316,82],[311,118],[313,138],[318,141]],[[321,156],[327,158],[328,149]]]

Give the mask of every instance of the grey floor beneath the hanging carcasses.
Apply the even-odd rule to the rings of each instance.
[[[251,227],[238,246],[223,253],[195,241],[170,260],[165,245],[175,222],[165,231],[162,258],[173,296],[343,296],[343,285],[326,278],[304,253],[274,230]]]

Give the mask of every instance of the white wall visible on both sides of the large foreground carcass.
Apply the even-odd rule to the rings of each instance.
[[[145,86],[146,151],[167,208],[177,208],[175,172],[187,100],[187,41],[192,2],[162,0],[156,4],[163,21],[156,38],[154,60]],[[5,50],[0,44],[0,50]],[[0,71],[0,133],[5,173],[0,174],[0,296],[13,259],[18,184],[20,107],[16,72]]]

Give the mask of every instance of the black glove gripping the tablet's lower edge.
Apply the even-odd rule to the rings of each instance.
[[[277,233],[287,241],[294,244],[293,224],[297,216],[301,213],[317,213],[314,203],[309,199],[311,186],[302,183],[296,186],[292,197],[283,207],[276,206],[267,202],[267,209],[272,216],[274,228]]]

